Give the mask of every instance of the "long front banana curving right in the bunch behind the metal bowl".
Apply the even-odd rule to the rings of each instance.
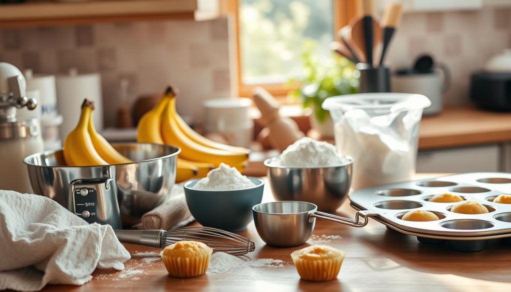
[[[171,98],[172,99],[172,98]],[[172,118],[175,109],[174,102],[170,102],[165,108],[161,122],[161,134],[166,144],[176,145],[181,148],[181,156],[186,160],[212,163],[215,166],[220,163],[237,165],[248,159],[247,153],[219,150],[200,145],[179,130],[176,121]]]

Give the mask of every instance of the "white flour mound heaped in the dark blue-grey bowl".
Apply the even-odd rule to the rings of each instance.
[[[232,191],[251,188],[255,186],[250,179],[242,175],[236,168],[221,163],[217,169],[213,169],[198,181],[194,190],[201,191]]]

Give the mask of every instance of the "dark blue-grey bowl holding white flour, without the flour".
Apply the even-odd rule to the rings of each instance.
[[[237,232],[253,220],[252,207],[263,199],[262,179],[248,177],[255,186],[233,191],[200,191],[192,189],[199,181],[184,184],[188,208],[195,219],[206,227]]]

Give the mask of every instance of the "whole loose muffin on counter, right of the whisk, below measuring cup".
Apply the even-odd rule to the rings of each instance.
[[[330,281],[337,278],[344,252],[327,245],[312,245],[291,253],[300,277],[307,281]]]

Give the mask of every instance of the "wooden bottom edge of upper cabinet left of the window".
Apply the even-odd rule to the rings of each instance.
[[[212,0],[212,2],[215,2]],[[202,3],[202,5],[201,5]],[[0,5],[0,27],[58,26],[101,21],[194,19],[214,15],[200,0],[33,0]]]

